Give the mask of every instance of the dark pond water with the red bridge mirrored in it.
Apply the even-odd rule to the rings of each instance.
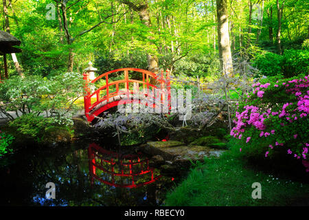
[[[174,186],[132,147],[75,142],[23,148],[0,167],[3,206],[161,206]],[[56,199],[46,199],[48,182]]]

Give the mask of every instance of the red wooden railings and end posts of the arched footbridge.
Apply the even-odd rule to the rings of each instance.
[[[124,79],[111,81],[111,74],[123,72]],[[142,74],[142,80],[135,80],[129,78],[130,72],[139,72]],[[93,120],[93,113],[95,107],[98,107],[115,100],[119,100],[119,96],[126,95],[130,98],[130,94],[142,94],[146,98],[150,98],[155,94],[155,89],[161,89],[161,102],[170,103],[170,72],[161,71],[160,74],[149,72],[145,69],[137,68],[122,68],[114,69],[110,72],[101,74],[97,78],[90,80],[89,72],[83,74],[85,80],[85,89],[87,94],[84,96],[84,110],[85,115],[89,120]],[[91,85],[97,83],[99,80],[104,80],[104,85],[91,93]],[[133,86],[131,86],[133,85]],[[165,93],[168,94],[168,100],[165,100]],[[95,113],[94,113],[95,115]],[[98,115],[97,115],[98,116]]]

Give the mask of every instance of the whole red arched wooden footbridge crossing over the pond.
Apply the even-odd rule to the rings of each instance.
[[[89,72],[84,73],[83,76],[86,82],[84,113],[89,122],[118,104],[140,103],[141,100],[148,100],[144,103],[155,108],[158,102],[153,100],[159,97],[159,103],[168,104],[170,107],[170,72],[168,70],[155,74],[145,69],[122,68],[101,74],[93,80],[90,80]],[[96,89],[92,88],[93,85]],[[155,96],[158,91],[161,94]],[[150,100],[152,102],[149,102]]]

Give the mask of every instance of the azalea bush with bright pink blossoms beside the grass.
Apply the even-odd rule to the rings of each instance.
[[[238,104],[230,134],[242,141],[241,153],[249,157],[280,152],[308,161],[308,114],[309,75],[266,78]]]

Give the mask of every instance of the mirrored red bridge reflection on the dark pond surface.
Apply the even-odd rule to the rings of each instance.
[[[98,144],[89,144],[89,173],[91,185],[94,179],[103,184],[119,188],[137,188],[151,184],[161,177],[154,168],[149,167],[149,160],[137,155],[122,155],[107,151]]]

